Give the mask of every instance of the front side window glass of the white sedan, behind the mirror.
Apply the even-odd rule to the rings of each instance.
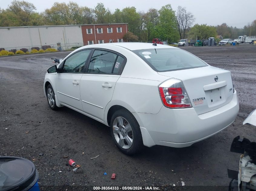
[[[82,72],[90,52],[91,52],[91,49],[82,50],[68,57],[65,60],[62,72],[68,72],[68,73]]]

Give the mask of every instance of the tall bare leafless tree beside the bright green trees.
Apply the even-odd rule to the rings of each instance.
[[[191,27],[194,22],[194,15],[191,12],[187,12],[185,7],[178,6],[176,11],[176,26],[178,28],[180,37],[185,38],[187,30]]]

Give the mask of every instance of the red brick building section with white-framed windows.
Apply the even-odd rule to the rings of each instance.
[[[81,25],[84,45],[123,42],[128,23]]]

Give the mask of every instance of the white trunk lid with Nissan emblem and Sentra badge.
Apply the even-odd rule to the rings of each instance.
[[[231,72],[228,70],[206,66],[158,74],[183,82],[192,107],[198,115],[226,105],[233,97]]]

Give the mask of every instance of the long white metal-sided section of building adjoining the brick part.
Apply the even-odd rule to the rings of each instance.
[[[83,46],[81,25],[0,27],[0,48],[30,51],[45,45],[59,50]]]

